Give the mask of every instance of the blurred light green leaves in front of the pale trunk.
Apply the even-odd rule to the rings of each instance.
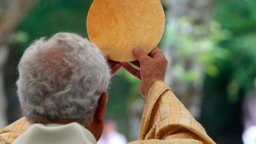
[[[216,60],[226,59],[229,51],[218,43],[229,36],[218,22],[208,26],[192,26],[188,17],[171,22],[166,26],[164,43],[175,52],[176,64],[172,67],[175,78],[185,83],[197,83],[204,72],[209,76],[218,75]],[[203,72],[200,72],[200,71]]]

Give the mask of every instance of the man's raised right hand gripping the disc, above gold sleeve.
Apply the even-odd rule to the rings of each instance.
[[[137,61],[131,63],[140,67],[140,70],[137,70],[126,62],[122,62],[122,66],[126,71],[142,81],[140,92],[146,98],[148,90],[154,82],[164,81],[168,62],[165,55],[157,48],[153,49],[149,56],[140,48],[134,48],[132,52]]]

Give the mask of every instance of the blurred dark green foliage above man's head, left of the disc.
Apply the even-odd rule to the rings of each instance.
[[[41,0],[22,21],[19,30],[29,39],[23,49],[39,37],[56,32],[74,32],[86,36],[86,15],[92,0]]]

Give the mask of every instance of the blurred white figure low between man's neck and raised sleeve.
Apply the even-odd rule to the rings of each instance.
[[[98,144],[126,144],[127,140],[124,135],[117,131],[116,123],[113,120],[107,120],[104,130]]]

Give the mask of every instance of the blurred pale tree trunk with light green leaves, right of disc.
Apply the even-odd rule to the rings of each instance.
[[[212,0],[163,1],[166,6],[166,33],[162,40],[169,61],[166,83],[199,118],[202,88],[206,73],[218,74],[214,62],[225,57],[218,48],[224,38],[218,23],[212,21]]]

